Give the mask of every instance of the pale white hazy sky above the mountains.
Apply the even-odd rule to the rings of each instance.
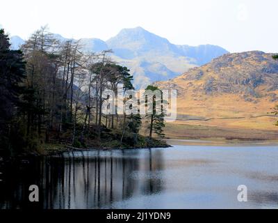
[[[142,26],[181,45],[278,52],[277,0],[3,0],[0,24],[28,38],[48,24],[67,38],[107,40]]]

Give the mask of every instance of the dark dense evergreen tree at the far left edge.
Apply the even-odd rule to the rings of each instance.
[[[10,147],[11,122],[24,91],[25,62],[20,50],[10,50],[8,35],[0,30],[0,146]]]

